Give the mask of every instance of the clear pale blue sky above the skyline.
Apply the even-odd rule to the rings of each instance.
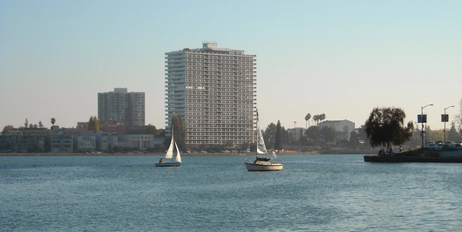
[[[462,1],[0,0],[0,125],[71,128],[97,93],[145,92],[165,128],[165,52],[202,41],[257,55],[260,125],[399,107],[432,129],[462,99]],[[310,122],[311,123],[311,122]],[[448,127],[450,123],[446,123]],[[260,126],[263,127],[263,126]]]

